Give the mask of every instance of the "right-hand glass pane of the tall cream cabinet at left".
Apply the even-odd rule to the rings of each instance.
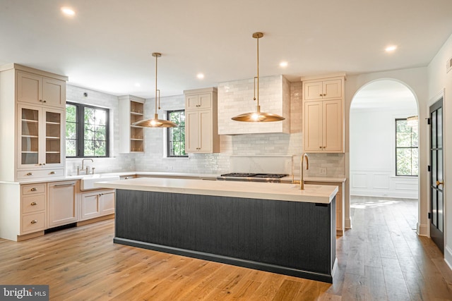
[[[45,163],[61,163],[61,113],[45,111]]]

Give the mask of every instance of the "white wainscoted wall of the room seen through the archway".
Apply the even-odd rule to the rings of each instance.
[[[417,199],[417,177],[395,176],[396,118],[414,107],[350,109],[350,195]]]

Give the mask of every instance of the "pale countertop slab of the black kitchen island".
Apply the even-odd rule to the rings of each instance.
[[[215,195],[221,197],[244,197],[275,199],[292,202],[329,204],[338,188],[328,185],[299,185],[291,183],[261,183],[241,181],[194,180],[175,178],[132,178],[97,182],[98,188],[172,192],[189,195]]]

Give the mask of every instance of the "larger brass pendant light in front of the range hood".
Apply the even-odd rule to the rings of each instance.
[[[253,37],[257,40],[257,76],[254,78],[254,100],[256,103],[256,111],[251,113],[243,113],[232,117],[234,121],[244,122],[271,122],[271,121],[283,121],[285,118],[273,113],[261,112],[261,106],[259,106],[259,39],[263,37],[262,32],[254,32]],[[256,81],[257,81],[257,97],[256,97]]]

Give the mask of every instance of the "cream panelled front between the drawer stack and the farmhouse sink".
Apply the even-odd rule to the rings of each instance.
[[[62,226],[78,220],[78,180],[47,183],[47,227]]]

